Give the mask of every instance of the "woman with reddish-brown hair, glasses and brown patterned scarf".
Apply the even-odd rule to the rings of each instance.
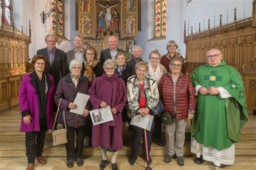
[[[98,53],[93,46],[87,46],[83,53],[84,62],[82,66],[81,74],[84,77],[89,79],[90,84],[96,78],[101,76],[100,74],[100,65],[98,60]],[[86,126],[85,126],[85,138],[84,146],[87,147],[90,145],[92,138],[92,120],[90,115],[86,117]]]

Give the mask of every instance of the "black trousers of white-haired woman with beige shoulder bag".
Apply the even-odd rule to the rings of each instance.
[[[73,128],[68,127],[68,142],[66,146],[66,158],[76,160],[82,157],[84,148],[84,126]],[[77,134],[77,144],[75,147],[75,133]]]

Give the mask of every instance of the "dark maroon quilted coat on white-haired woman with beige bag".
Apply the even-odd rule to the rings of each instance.
[[[75,84],[73,84],[73,81],[71,80],[70,73],[67,76],[60,79],[54,95],[54,100],[56,105],[58,105],[59,100],[62,98],[62,101],[60,102],[60,106],[59,106],[57,123],[64,125],[63,110],[65,110],[66,126],[78,128],[80,126],[85,125],[86,118],[83,115],[69,112],[70,108],[68,108],[68,106],[70,103],[73,103],[78,92],[87,94],[88,88],[89,88],[89,80],[84,76],[82,76],[79,79],[77,88],[75,87]],[[90,109],[89,101],[86,105],[86,108],[87,110]]]

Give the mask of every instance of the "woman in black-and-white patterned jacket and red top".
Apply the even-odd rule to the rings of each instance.
[[[127,80],[127,98],[128,106],[133,115],[141,115],[144,117],[150,114],[151,108],[155,107],[158,103],[159,93],[157,89],[157,81],[146,77],[147,71],[149,71],[149,65],[145,62],[139,62],[135,66],[136,74],[131,76]],[[144,129],[133,126],[133,139],[132,139],[132,156],[129,159],[130,165],[135,165],[139,154],[140,139],[144,137]],[[147,151],[150,158],[150,147],[152,143],[151,139],[152,130],[146,131],[147,136]],[[143,138],[143,146],[145,146],[145,138]],[[143,147],[143,158],[146,158],[146,149]]]

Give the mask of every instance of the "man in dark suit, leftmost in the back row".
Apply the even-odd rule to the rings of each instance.
[[[57,85],[60,78],[67,74],[67,62],[65,52],[56,49],[57,37],[49,34],[45,37],[46,48],[37,50],[37,55],[43,55],[48,58],[48,63],[45,69],[46,73],[53,76],[55,84]]]

